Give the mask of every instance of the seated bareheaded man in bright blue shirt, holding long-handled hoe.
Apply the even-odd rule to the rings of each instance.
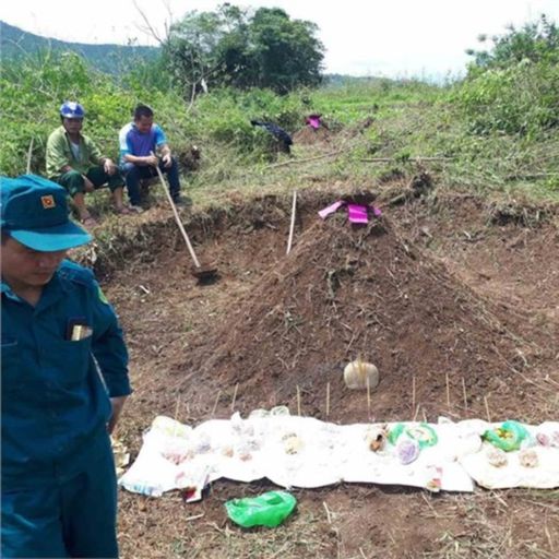
[[[165,133],[153,121],[153,110],[147,105],[138,105],[134,120],[120,130],[120,168],[126,177],[128,195],[132,207],[141,210],[140,181],[157,177],[157,165],[167,174],[169,193],[176,204],[188,201],[180,195],[179,167],[171,157]],[[160,159],[155,154],[160,153]]]

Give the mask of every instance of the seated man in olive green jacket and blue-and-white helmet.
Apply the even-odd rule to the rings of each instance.
[[[122,203],[124,181],[111,159],[100,154],[93,141],[82,134],[85,111],[75,102],[60,107],[62,126],[55,130],[47,142],[47,177],[64,187],[75,204],[84,225],[96,225],[85,206],[85,192],[108,185],[120,214],[131,213]]]

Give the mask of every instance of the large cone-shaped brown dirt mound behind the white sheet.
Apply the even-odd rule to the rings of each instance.
[[[500,412],[514,409],[519,380],[504,367],[514,350],[506,325],[488,301],[412,249],[385,219],[360,229],[342,215],[313,222],[292,254],[229,309],[197,348],[212,357],[194,355],[185,365],[216,390],[238,383],[241,409],[281,403],[295,409],[298,389],[304,412],[323,417],[330,383],[332,415],[362,420],[366,395],[347,390],[342,378],[357,356],[380,370],[372,396],[378,419],[411,418],[418,404],[428,415],[443,413],[447,378],[461,409],[465,393],[468,408],[484,413],[489,392],[499,394]]]

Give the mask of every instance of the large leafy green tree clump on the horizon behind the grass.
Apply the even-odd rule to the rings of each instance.
[[[176,82],[191,96],[204,83],[287,93],[320,83],[324,47],[317,31],[284,10],[225,3],[215,12],[187,13],[169,29],[164,51]]]

